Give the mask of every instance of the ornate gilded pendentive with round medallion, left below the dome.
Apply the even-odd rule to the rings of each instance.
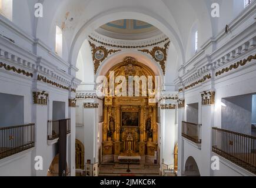
[[[112,53],[119,52],[121,50],[114,50],[110,49],[108,50],[104,46],[96,46],[94,43],[89,41],[89,44],[91,46],[91,51],[92,51],[92,59],[94,61],[94,74],[96,75],[97,70],[99,68],[99,65],[101,65],[101,62],[104,61],[109,55]]]

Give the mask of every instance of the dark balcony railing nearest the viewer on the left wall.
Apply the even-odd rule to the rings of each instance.
[[[0,159],[35,147],[35,124],[0,128]]]

